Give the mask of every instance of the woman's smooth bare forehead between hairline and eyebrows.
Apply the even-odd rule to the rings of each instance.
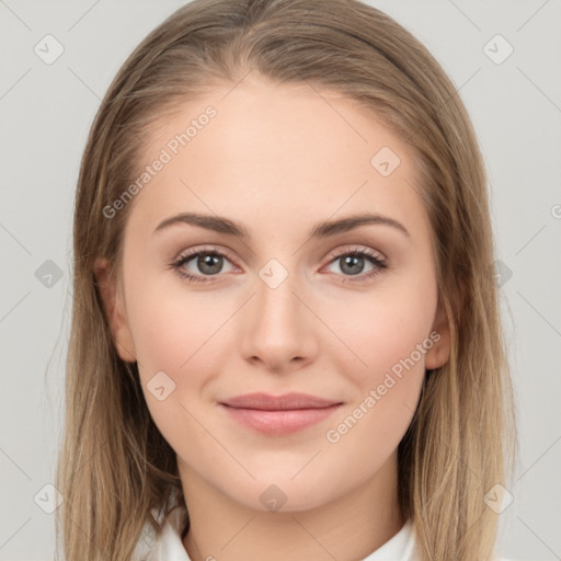
[[[147,138],[140,165],[162,154],[134,202],[153,227],[182,210],[250,228],[357,211],[413,222],[413,232],[426,226],[404,142],[371,110],[308,84],[248,81],[179,104]]]

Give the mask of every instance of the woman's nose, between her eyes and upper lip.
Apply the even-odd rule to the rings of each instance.
[[[255,295],[241,316],[243,358],[267,371],[289,373],[316,359],[318,320],[295,278],[289,274],[274,287],[257,277]]]

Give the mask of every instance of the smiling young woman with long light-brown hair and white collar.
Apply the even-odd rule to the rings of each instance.
[[[75,260],[68,559],[495,559],[515,430],[485,173],[393,20],[178,10],[102,102]]]

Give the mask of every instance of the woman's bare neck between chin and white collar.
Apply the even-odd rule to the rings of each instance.
[[[187,466],[181,465],[180,472],[191,522],[183,545],[192,561],[364,559],[404,524],[397,450],[374,478],[308,511],[256,511],[231,500]]]

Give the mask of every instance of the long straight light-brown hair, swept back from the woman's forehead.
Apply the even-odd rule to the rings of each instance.
[[[116,352],[93,263],[105,256],[118,274],[133,205],[112,219],[103,209],[137,176],[162,118],[249,72],[358,102],[414,157],[451,350],[445,365],[426,371],[399,444],[399,502],[414,523],[422,561],[491,559],[497,515],[484,495],[508,484],[517,436],[483,159],[436,59],[358,0],[194,0],[154,28],[112,81],[89,134],[75,203],[67,409],[56,473],[65,554],[129,560],[146,522],[159,531],[173,508],[185,506],[175,453],[150,416],[138,365]],[[152,508],[162,505],[159,522]]]

